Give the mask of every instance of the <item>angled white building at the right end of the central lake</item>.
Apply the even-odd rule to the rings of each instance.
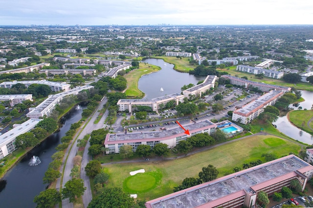
[[[210,88],[214,88],[216,78],[217,76],[208,75],[206,76],[206,78],[201,84],[198,84],[194,87],[191,87],[187,90],[182,91],[182,94],[188,98],[191,95],[195,95],[195,96],[199,95],[201,97],[202,94],[205,93],[207,90],[209,90]]]

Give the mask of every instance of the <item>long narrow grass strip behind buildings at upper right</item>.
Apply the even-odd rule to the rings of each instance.
[[[217,69],[217,70],[219,72],[227,72],[231,76],[236,76],[236,75],[238,75],[238,77],[246,76],[248,77],[248,80],[254,81],[254,82],[264,82],[267,84],[279,85],[279,86],[284,86],[284,87],[295,87],[297,90],[313,91],[313,85],[310,83],[299,82],[296,84],[291,84],[291,83],[284,82],[281,79],[274,79],[274,78],[268,78],[268,77],[259,79],[255,77],[253,74],[236,71],[236,66],[231,66],[229,67],[229,69],[227,68],[227,69]]]

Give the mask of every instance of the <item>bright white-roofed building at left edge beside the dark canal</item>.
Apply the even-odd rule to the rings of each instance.
[[[29,119],[22,124],[13,124],[13,129],[0,135],[0,160],[15,151],[15,138],[32,130],[42,119]]]

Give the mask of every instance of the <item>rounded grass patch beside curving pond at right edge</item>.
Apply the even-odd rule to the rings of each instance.
[[[289,113],[289,119],[293,125],[313,135],[313,131],[307,126],[308,121],[312,117],[313,117],[312,110],[311,111],[296,110],[291,111]],[[310,123],[310,127],[313,128],[313,122]]]

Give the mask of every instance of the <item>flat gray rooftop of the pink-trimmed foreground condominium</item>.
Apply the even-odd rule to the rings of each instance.
[[[307,166],[309,164],[301,159],[294,155],[289,155],[285,159],[274,160],[257,167],[233,173],[229,176],[224,176],[213,182],[207,182],[196,186],[192,190],[179,191],[177,195],[169,196],[169,198],[166,198],[166,196],[160,197],[158,201],[150,201],[149,204],[151,204],[152,208],[196,208],[240,190],[254,193],[251,187]]]

